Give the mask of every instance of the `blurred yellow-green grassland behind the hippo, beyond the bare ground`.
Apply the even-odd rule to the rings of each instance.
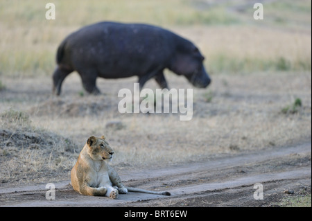
[[[311,71],[311,1],[250,0],[0,1],[0,76],[51,76],[55,51],[69,33],[96,21],[154,24],[191,39],[207,71]]]

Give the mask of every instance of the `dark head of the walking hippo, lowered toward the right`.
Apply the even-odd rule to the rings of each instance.
[[[186,41],[182,46],[178,46],[169,69],[177,75],[182,75],[195,87],[207,87],[211,79],[209,78],[204,65],[204,57],[198,48],[191,42]]]

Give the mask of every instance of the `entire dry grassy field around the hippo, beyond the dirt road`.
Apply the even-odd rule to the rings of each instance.
[[[263,20],[244,0],[52,2],[55,20],[45,1],[0,1],[0,185],[69,179],[91,135],[107,136],[118,169],[311,141],[311,1],[263,1]],[[103,94],[89,96],[71,74],[62,96],[51,94],[58,44],[103,20],[163,26],[199,46],[213,82],[193,89],[191,121],[119,114],[116,94],[136,78],[99,79]],[[169,86],[191,87],[165,74]],[[123,127],[105,127],[111,121]]]

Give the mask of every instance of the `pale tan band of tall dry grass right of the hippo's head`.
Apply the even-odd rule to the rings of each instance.
[[[198,44],[211,73],[311,70],[311,34],[261,26],[177,28]]]

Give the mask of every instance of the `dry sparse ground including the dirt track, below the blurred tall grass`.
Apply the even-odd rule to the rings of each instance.
[[[6,115],[0,118],[3,122],[0,163],[6,166],[0,170],[0,206],[279,206],[286,196],[309,195],[311,75],[287,77],[294,85],[288,85],[289,90],[298,94],[304,103],[297,115],[280,114],[281,107],[289,102],[288,94],[284,93],[287,85],[276,87],[276,82],[285,79],[282,75],[270,76],[269,82],[267,75],[216,76],[214,102],[207,103],[202,98],[204,91],[194,90],[193,132],[187,124],[172,127],[177,121],[169,116],[164,119],[169,121],[165,125],[170,128],[164,130],[162,124],[156,122],[164,121],[160,116],[136,116],[137,122],[156,125],[153,129],[135,123],[132,115],[119,114],[116,94],[120,88],[135,82],[135,78],[116,80],[114,84],[99,80],[103,95],[89,96],[81,94],[85,92],[81,86],[77,87],[80,79],[69,76],[63,85],[63,95],[58,98],[51,94],[50,78],[6,78],[0,112],[13,107],[28,115],[19,116],[15,128],[7,122]],[[250,83],[241,82],[242,78]],[[225,79],[232,84],[230,94]],[[187,84],[182,78],[169,76],[169,80],[182,88]],[[270,125],[268,118],[278,121]],[[81,144],[90,134],[105,131],[105,123],[114,125],[112,121],[116,119],[120,120],[120,127],[123,123],[127,127],[107,129],[105,135],[108,134],[110,144],[119,150],[114,166],[125,186],[169,191],[171,196],[128,193],[119,195],[118,200],[110,200],[73,191],[69,171],[83,147]],[[205,124],[204,128],[206,119],[211,124]],[[256,123],[248,125],[250,121]],[[119,121],[116,122],[118,125]],[[94,128],[90,124],[99,126]],[[263,130],[257,130],[263,125]],[[32,129],[33,126],[39,129]],[[40,130],[40,127],[46,129]],[[275,136],[272,133],[276,133]],[[133,147],[141,158],[139,154],[134,155]],[[150,156],[155,150],[162,155]],[[167,159],[166,155],[173,154],[179,159]],[[158,159],[158,164],[153,157]],[[136,161],[141,161],[140,169],[136,169]],[[36,170],[32,170],[33,167],[37,167]],[[46,200],[49,194],[46,184],[51,182],[55,185],[55,200]],[[254,184],[258,183],[263,186],[263,200],[254,199],[257,191]]]

